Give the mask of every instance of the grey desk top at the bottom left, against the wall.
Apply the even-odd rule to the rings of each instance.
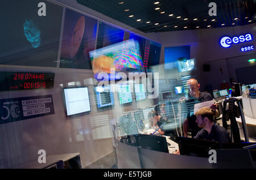
[[[17,169],[44,169],[44,168],[47,168],[51,165],[56,164],[57,162],[59,162],[61,160],[63,162],[66,162],[66,161],[71,160],[72,158],[74,158],[76,156],[80,156],[80,153],[70,153],[70,154],[63,154],[63,155],[46,156],[46,163],[40,164],[36,160],[36,161],[33,161],[33,162],[28,162],[26,164],[20,165],[16,168]],[[80,163],[80,165],[81,165],[81,163]]]

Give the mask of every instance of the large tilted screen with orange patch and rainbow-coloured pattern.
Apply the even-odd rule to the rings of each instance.
[[[101,79],[101,75],[98,76],[101,72],[116,74],[119,71],[142,71],[139,43],[133,39],[93,50],[89,55],[96,79]]]

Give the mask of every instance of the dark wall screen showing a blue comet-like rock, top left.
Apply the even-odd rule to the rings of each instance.
[[[46,11],[39,3],[45,3]],[[0,64],[56,67],[63,8],[44,0],[1,1]]]

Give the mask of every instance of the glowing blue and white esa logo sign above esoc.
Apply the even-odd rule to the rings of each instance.
[[[224,36],[221,38],[220,40],[220,45],[223,48],[229,48],[231,46],[231,44],[238,44],[240,42],[247,42],[247,41],[251,41],[253,40],[253,36],[251,36],[251,34],[246,34],[246,35],[240,35],[240,36],[234,36],[234,37],[228,37],[228,36]]]

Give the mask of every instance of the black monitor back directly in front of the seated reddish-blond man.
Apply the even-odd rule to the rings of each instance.
[[[209,157],[210,149],[220,149],[220,143],[212,140],[177,137],[180,155]]]

